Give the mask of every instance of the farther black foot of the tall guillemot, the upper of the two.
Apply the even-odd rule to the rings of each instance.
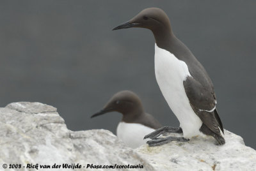
[[[144,137],[144,139],[146,139],[146,138],[156,139],[160,135],[163,135],[163,133],[182,133],[182,128],[180,128],[180,127],[179,128],[175,128],[175,127],[171,127],[171,126],[164,126],[163,128],[159,128],[156,131],[153,131],[152,133],[149,133],[148,135],[146,135]]]

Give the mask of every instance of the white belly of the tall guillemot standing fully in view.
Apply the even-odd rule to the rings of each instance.
[[[184,138],[201,135],[202,121],[191,108],[183,85],[191,77],[186,63],[155,45],[155,73],[165,100],[179,119]]]

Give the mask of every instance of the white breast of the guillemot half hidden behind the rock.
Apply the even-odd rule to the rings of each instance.
[[[142,124],[120,122],[116,129],[116,135],[126,145],[135,149],[148,141],[148,139],[143,140],[143,138],[152,131],[155,130]]]

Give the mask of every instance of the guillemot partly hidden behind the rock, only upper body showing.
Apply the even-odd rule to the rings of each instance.
[[[143,137],[162,127],[152,115],[144,112],[140,98],[131,91],[120,91],[114,94],[105,107],[92,117],[107,112],[123,114],[122,121],[116,128],[116,135],[132,148],[145,144],[147,140],[143,140]]]

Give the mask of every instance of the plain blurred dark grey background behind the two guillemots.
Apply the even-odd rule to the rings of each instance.
[[[225,129],[256,149],[256,1],[1,1],[0,106],[39,101],[70,130],[116,133],[121,114],[90,116],[129,89],[163,125],[179,126],[156,82],[152,33],[111,31],[148,7],[166,11],[205,66]]]

